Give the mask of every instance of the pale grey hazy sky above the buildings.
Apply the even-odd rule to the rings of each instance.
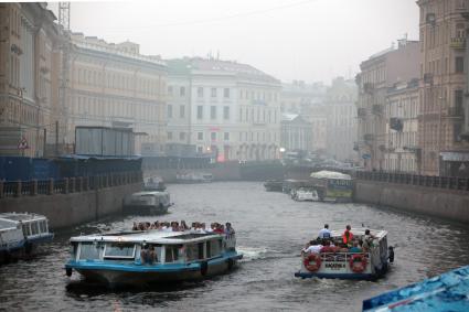
[[[71,28],[137,42],[142,54],[220,52],[286,82],[329,83],[353,76],[362,61],[406,33],[418,40],[418,7],[415,0],[72,2]]]

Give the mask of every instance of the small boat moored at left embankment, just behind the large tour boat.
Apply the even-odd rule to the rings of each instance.
[[[138,192],[124,198],[125,213],[166,214],[172,205],[168,192]]]

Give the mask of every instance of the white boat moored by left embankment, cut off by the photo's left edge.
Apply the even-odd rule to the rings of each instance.
[[[0,214],[0,263],[31,255],[39,244],[51,241],[47,218],[29,213]]]

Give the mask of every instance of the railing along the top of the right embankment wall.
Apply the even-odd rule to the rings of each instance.
[[[469,179],[458,176],[434,176],[412,173],[356,171],[358,180],[407,184],[425,187],[469,191]]]

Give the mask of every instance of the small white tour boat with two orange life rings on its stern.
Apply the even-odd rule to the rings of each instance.
[[[352,228],[351,232],[355,239],[363,239],[365,235],[365,228]],[[387,232],[371,229],[371,234],[374,238],[366,252],[339,249],[335,252],[303,254],[300,270],[295,276],[364,280],[384,276],[388,269]],[[331,240],[338,246],[342,241],[342,234],[332,232]]]

